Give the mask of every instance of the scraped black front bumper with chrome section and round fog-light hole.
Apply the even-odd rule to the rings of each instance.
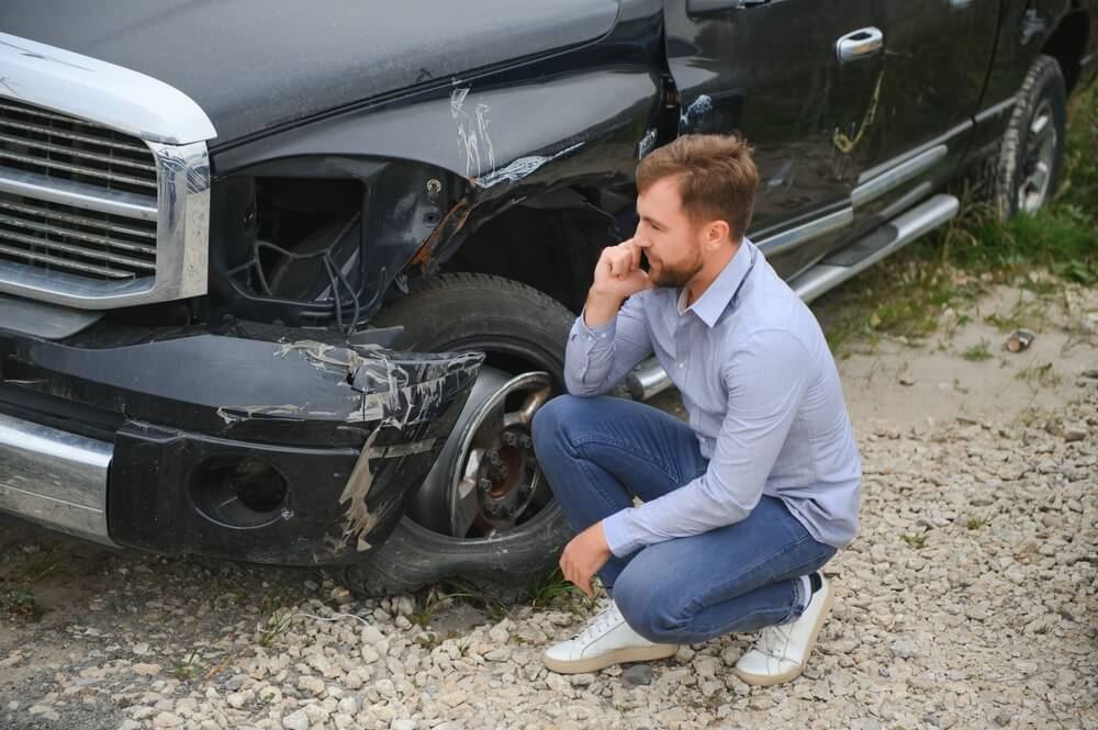
[[[0,323],[0,512],[161,553],[349,562],[429,471],[483,359],[233,323]],[[391,335],[391,333],[389,333]]]

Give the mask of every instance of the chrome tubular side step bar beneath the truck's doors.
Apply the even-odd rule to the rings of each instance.
[[[953,218],[961,209],[954,195],[940,194],[881,226],[872,234],[828,254],[819,263],[794,277],[789,287],[806,303],[870,268],[889,254]],[[654,357],[632,369],[625,379],[629,395],[647,401],[671,385]]]

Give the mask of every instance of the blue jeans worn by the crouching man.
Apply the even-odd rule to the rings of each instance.
[[[705,473],[690,427],[617,397],[561,395],[534,418],[534,448],[579,532]],[[598,571],[629,626],[650,641],[699,643],[804,611],[800,576],[834,555],[785,504],[763,496],[742,521],[612,557]]]

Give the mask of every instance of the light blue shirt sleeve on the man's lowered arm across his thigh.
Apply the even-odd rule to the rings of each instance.
[[[808,386],[808,352],[781,329],[753,334],[722,375],[728,402],[706,472],[677,490],[603,520],[618,558],[648,544],[738,523],[762,497],[766,478]]]

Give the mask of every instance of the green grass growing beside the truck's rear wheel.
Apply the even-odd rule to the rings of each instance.
[[[842,353],[853,341],[881,337],[952,335],[977,296],[996,283],[1016,283],[1040,297],[1054,282],[1031,277],[1045,270],[1063,280],[1098,284],[1098,85],[1068,109],[1064,161],[1055,200],[1035,215],[997,220],[986,204],[961,193],[962,213],[819,300],[828,344]],[[990,319],[1004,330],[1041,316],[1032,297]]]

